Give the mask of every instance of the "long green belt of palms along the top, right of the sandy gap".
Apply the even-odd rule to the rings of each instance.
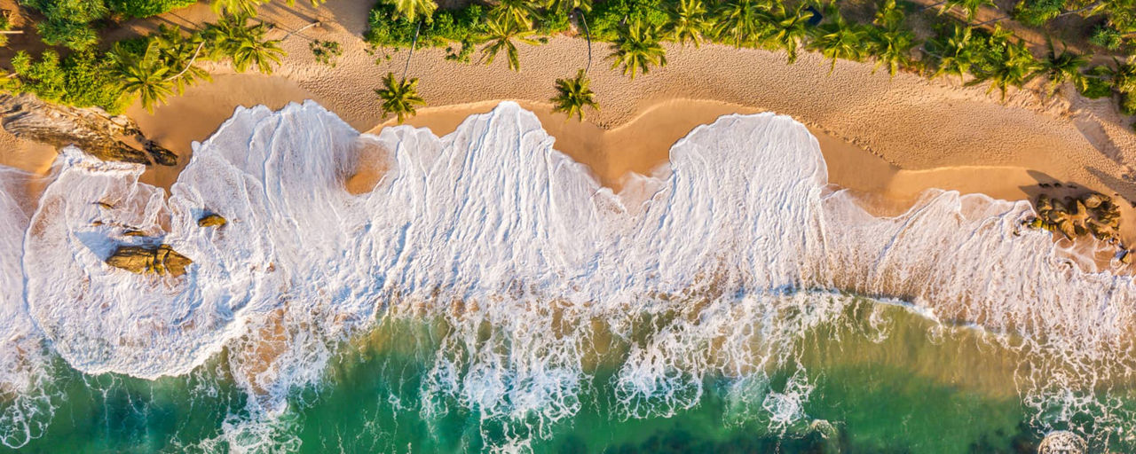
[[[424,0],[418,0],[424,1]],[[427,0],[428,1],[428,0]],[[501,51],[509,67],[519,69],[516,42],[537,44],[548,36],[590,25],[588,37],[609,42],[608,59],[630,78],[667,62],[662,41],[701,45],[716,42],[736,48],[784,51],[788,62],[800,48],[829,60],[829,73],[838,59],[874,61],[893,77],[901,70],[929,77],[953,76],[968,85],[997,90],[1003,99],[1010,87],[1043,77],[1044,95],[1066,83],[1086,96],[1117,95],[1125,109],[1136,108],[1136,94],[1118,82],[1124,68],[1085,67],[1088,54],[1070,52],[1060,44],[1034,54],[1028,43],[997,23],[1012,18],[1034,26],[1078,15],[1102,17],[1101,26],[1080,37],[1108,50],[1136,48],[1136,0],[1021,0],[1001,16],[976,24],[979,11],[996,10],[992,0],[943,0],[928,7],[879,0],[870,22],[846,19],[836,1],[820,0],[603,0],[587,1],[493,0],[454,10],[410,6],[409,0],[382,2],[370,12],[366,40],[375,47],[404,48],[420,26],[419,42],[446,47],[448,59],[469,61],[482,47],[482,61],[491,62]],[[407,6],[403,6],[407,5]],[[414,3],[417,5],[417,3]],[[487,5],[487,6],[483,6]],[[401,9],[400,9],[401,8]],[[922,12],[930,20],[930,36],[921,40],[908,16]],[[402,12],[400,12],[402,11]],[[408,12],[421,20],[410,20]],[[425,12],[429,11],[429,16]],[[822,12],[821,12],[822,11]],[[862,12],[857,17],[863,17]],[[937,17],[937,18],[936,18]],[[460,47],[460,48],[459,48]],[[1035,48],[1036,49],[1036,48]],[[1102,50],[1103,51],[1103,50]],[[1094,72],[1106,74],[1093,74]]]

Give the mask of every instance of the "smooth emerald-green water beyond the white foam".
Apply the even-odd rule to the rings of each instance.
[[[869,322],[872,311],[885,316],[886,336]],[[768,379],[704,379],[698,404],[670,417],[627,418],[612,398],[615,369],[599,367],[583,385],[578,412],[543,424],[483,420],[450,397],[424,396],[436,336],[425,323],[384,322],[341,346],[324,385],[292,394],[270,445],[301,453],[482,452],[510,440],[538,453],[1036,452],[1046,415],[1021,403],[1017,353],[983,342],[976,330],[935,329],[902,308],[854,305],[846,319],[804,334],[796,361],[768,371]],[[224,362],[156,381],[84,376],[57,364],[64,372],[55,418],[19,452],[227,452],[225,427],[251,417],[249,397],[232,385]],[[762,405],[791,384],[812,389],[803,414],[778,423]],[[1120,405],[1136,409],[1136,394],[1124,393]],[[1059,419],[1049,422],[1062,428]],[[1134,448],[1120,435],[1097,439],[1104,440],[1094,442],[1099,447]]]

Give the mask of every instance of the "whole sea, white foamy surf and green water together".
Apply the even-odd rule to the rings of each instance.
[[[771,114],[696,128],[618,194],[552,143],[509,102],[445,137],[308,102],[237,109],[168,196],[74,149],[37,201],[3,169],[0,440],[1136,451],[1136,283],[1021,228],[1028,203],[930,191],[875,217]],[[352,195],[360,160],[387,170]],[[102,262],[147,243],[189,274]]]

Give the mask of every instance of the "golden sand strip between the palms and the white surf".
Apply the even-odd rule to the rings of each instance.
[[[320,9],[269,3],[261,17],[279,27],[274,37],[321,20],[285,41],[289,57],[274,76],[232,75],[210,65],[220,74],[214,83],[190,89],[153,115],[137,106],[130,115],[143,132],[183,154],[183,166],[190,141],[206,138],[236,106],[275,108],[314,99],[359,131],[390,125],[381,118],[373,90],[387,72],[401,73],[407,52],[367,51],[360,36],[371,3],[337,0]],[[158,23],[197,28],[206,20],[212,14],[199,3],[122,33],[144,32]],[[315,62],[311,39],[343,45],[337,67]],[[802,52],[795,65],[786,65],[783,52],[721,45],[668,45],[667,67],[630,81],[609,69],[603,60],[608,45],[596,43],[590,76],[602,110],[588,111],[580,124],[552,114],[546,100],[554,94],[556,78],[586,64],[585,41],[557,36],[545,45],[519,48],[520,73],[508,70],[500,59],[492,66],[469,65],[446,61],[442,49],[415,52],[409,76],[420,78],[419,92],[432,107],[409,123],[444,134],[500,100],[518,101],[537,114],[558,149],[618,188],[627,171],[646,173],[665,162],[670,144],[699,124],[724,114],[776,111],[817,135],[833,183],[889,211],[928,187],[1016,200],[1035,195],[1038,183],[1052,182],[1076,182],[1136,201],[1136,135],[1128,127],[1131,119],[1120,117],[1111,100],[1043,100],[1028,90],[1011,90],[1000,102],[996,92],[958,81],[874,74],[870,62],[842,60],[829,75],[828,64],[816,53]],[[0,163],[24,167],[10,154],[0,153]],[[25,161],[42,169],[35,167],[41,161]],[[145,179],[168,185],[176,170],[151,171]],[[352,182],[354,190],[365,190],[377,173],[368,174],[370,178]],[[1124,203],[1125,236],[1134,239],[1136,213],[1129,203]]]

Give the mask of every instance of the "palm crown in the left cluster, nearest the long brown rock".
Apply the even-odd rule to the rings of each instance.
[[[174,83],[166,77],[169,67],[162,64],[157,42],[147,45],[141,56],[130,53],[116,43],[111,60],[116,62],[123,92],[136,94],[148,112],[153,114],[153,106],[165,103],[166,98],[173,94]]]

